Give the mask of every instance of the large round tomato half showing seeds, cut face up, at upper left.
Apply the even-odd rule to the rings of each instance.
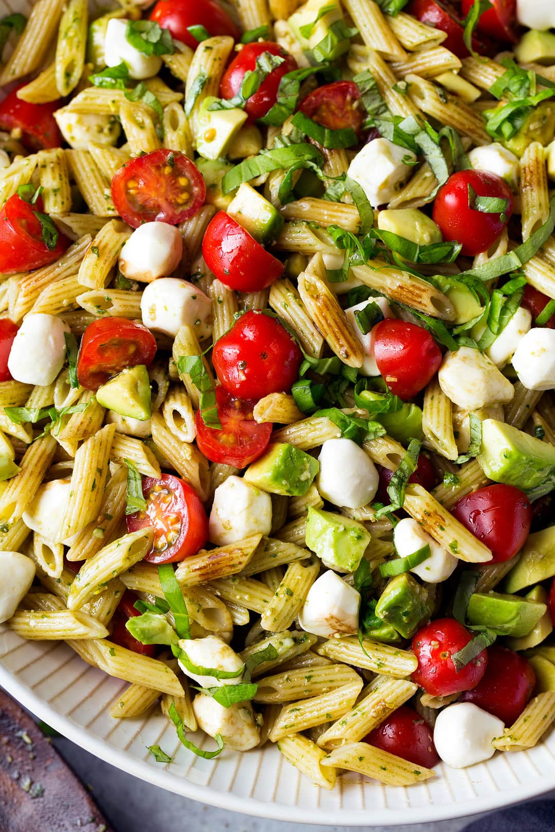
[[[117,213],[131,228],[143,222],[178,225],[205,201],[200,171],[181,151],[161,149],[126,162],[111,180]]]

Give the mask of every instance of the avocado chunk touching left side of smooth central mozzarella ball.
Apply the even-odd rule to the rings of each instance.
[[[286,442],[268,445],[265,453],[245,471],[245,483],[270,494],[302,497],[320,471],[320,463],[309,453]]]

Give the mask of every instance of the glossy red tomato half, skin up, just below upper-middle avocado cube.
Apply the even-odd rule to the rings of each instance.
[[[202,255],[218,280],[238,292],[260,292],[284,269],[280,260],[223,210],[212,217],[205,231]]]

